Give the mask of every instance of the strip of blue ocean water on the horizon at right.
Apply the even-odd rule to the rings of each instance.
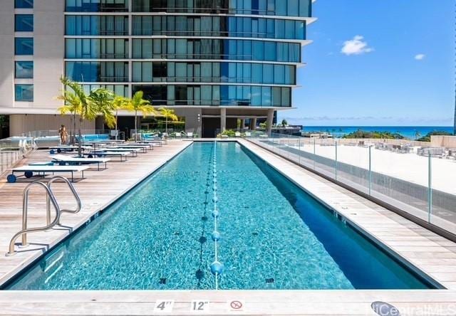
[[[363,130],[366,132],[392,132],[403,135],[408,139],[416,139],[427,135],[428,132],[453,132],[452,126],[305,126],[303,132],[330,132],[336,137]],[[417,135],[418,132],[418,135]]]

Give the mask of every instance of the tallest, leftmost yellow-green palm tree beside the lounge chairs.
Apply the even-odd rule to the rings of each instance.
[[[110,99],[112,93],[104,88],[98,88],[90,91],[88,95],[83,90],[81,84],[76,83],[68,78],[61,78],[61,83],[64,85],[63,95],[58,96],[59,100],[63,100],[65,105],[60,107],[61,114],[73,112],[79,116],[78,126],[78,155],[82,156],[82,132],[81,125],[84,120],[95,120],[97,115],[103,115],[106,125],[113,126],[114,116],[112,107],[110,106]],[[70,88],[71,91],[68,91]]]

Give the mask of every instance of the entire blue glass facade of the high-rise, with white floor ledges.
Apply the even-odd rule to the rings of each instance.
[[[66,0],[66,75],[154,105],[291,107],[311,2]]]

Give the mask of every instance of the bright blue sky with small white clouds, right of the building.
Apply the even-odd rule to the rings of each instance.
[[[452,125],[454,0],[318,0],[298,70],[302,125]]]

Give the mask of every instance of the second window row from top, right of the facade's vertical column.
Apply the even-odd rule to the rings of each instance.
[[[133,35],[306,39],[304,21],[238,16],[133,16]]]

